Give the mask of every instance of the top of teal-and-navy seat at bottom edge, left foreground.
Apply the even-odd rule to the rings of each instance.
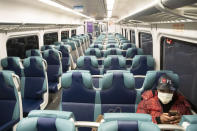
[[[71,112],[32,111],[17,125],[16,131],[75,131]]]

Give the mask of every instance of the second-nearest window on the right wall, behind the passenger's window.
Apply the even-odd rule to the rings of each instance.
[[[139,33],[139,47],[143,49],[145,55],[153,55],[153,40],[150,33]]]

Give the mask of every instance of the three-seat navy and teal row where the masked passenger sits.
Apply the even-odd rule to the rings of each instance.
[[[109,71],[103,76],[101,90],[97,90],[88,71],[68,71],[61,80],[61,110],[73,112],[78,121],[94,121],[106,112],[136,112],[141,93],[155,89],[162,74],[168,74],[178,85],[178,75],[172,71],[149,71],[140,89],[135,88],[139,81],[133,74]]]

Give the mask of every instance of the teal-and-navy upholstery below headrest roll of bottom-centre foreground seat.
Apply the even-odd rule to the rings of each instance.
[[[160,131],[159,127],[152,122],[144,121],[110,121],[102,123],[98,131]]]

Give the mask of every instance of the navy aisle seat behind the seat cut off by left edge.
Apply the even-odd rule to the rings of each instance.
[[[21,78],[23,99],[42,100],[47,92],[46,63],[41,57],[32,56],[24,59],[24,77]]]

